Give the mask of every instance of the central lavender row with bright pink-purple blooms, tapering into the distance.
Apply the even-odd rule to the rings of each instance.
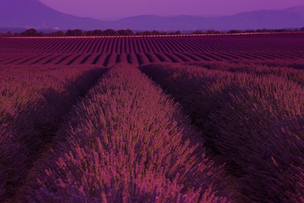
[[[222,167],[178,105],[137,68],[118,64],[58,131],[29,202],[228,202]]]

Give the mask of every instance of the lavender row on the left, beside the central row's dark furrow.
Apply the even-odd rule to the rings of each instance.
[[[13,198],[62,116],[103,70],[94,67],[0,67],[0,201]]]

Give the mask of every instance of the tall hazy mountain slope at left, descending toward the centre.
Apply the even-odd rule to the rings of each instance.
[[[39,0],[0,0],[0,27],[92,29],[102,23],[61,13]]]

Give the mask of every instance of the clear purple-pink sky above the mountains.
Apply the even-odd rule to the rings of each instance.
[[[303,0],[40,0],[63,13],[98,19],[138,15],[231,15],[304,5]]]

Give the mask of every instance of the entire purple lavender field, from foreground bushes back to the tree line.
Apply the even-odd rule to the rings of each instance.
[[[0,38],[0,202],[304,202],[304,34]]]

